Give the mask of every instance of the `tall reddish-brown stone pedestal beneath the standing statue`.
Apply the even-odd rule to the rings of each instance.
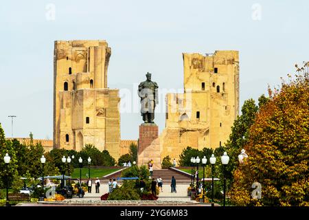
[[[144,123],[139,126],[139,146],[137,164],[147,165],[153,160],[154,169],[161,169],[161,153],[157,124]]]

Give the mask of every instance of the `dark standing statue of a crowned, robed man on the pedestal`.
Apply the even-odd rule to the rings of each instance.
[[[141,116],[145,123],[154,123],[155,107],[159,103],[158,85],[151,80],[151,74],[147,72],[147,80],[139,83],[139,97],[141,98]]]

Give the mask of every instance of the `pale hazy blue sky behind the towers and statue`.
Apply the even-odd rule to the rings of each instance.
[[[54,4],[55,20],[45,7]],[[261,19],[253,19],[255,6]],[[254,9],[253,9],[253,8]],[[0,8],[0,122],[14,137],[52,139],[56,40],[105,39],[108,86],[132,89],[146,72],[183,88],[183,52],[240,51],[240,104],[308,61],[309,1],[4,1]],[[256,15],[256,14],[255,14]],[[135,91],[134,91],[135,93]],[[136,95],[136,94],[134,94]],[[164,104],[161,103],[160,104]],[[164,113],[156,115],[160,131]],[[122,113],[122,139],[137,139],[139,113]]]

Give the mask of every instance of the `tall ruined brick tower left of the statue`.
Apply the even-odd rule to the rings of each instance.
[[[119,158],[119,90],[107,87],[106,41],[55,41],[54,148],[93,144]]]

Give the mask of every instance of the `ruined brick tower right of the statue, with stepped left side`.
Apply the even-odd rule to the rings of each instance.
[[[183,148],[224,146],[239,111],[238,51],[183,54],[184,94],[167,94],[161,159]]]

